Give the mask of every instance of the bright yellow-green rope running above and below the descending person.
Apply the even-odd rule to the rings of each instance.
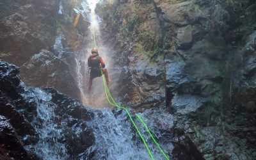
[[[96,37],[95,37],[95,29],[93,29],[93,43],[94,43],[94,47],[97,48]],[[149,154],[150,158],[151,158],[152,160],[154,160],[154,157],[153,157],[153,155],[152,155],[152,152],[150,152],[150,149],[148,148],[148,145],[147,145],[145,139],[143,138],[143,136],[142,136],[140,130],[138,129],[137,125],[135,124],[134,120],[132,119],[131,113],[130,113],[129,110],[128,110],[127,108],[125,108],[124,106],[120,106],[120,105],[116,104],[116,102],[115,102],[115,100],[113,99],[111,93],[109,92],[108,84],[107,84],[107,82],[106,82],[106,78],[104,77],[104,73],[102,72],[102,69],[101,69],[100,71],[101,71],[101,74],[102,74],[102,79],[103,79],[103,83],[104,83],[104,90],[105,90],[106,98],[108,99],[109,104],[111,104],[112,106],[115,106],[115,107],[118,108],[118,109],[123,109],[123,110],[127,113],[127,115],[129,116],[129,119],[130,119],[131,122],[132,122],[132,125],[134,125],[136,131],[138,132],[138,134],[139,134],[139,136],[140,136],[140,138],[141,138],[141,140],[143,141],[145,147],[147,148],[147,151],[148,151],[148,154]],[[110,99],[111,99],[111,100],[110,100]],[[111,102],[111,101],[112,101],[112,102]],[[152,138],[152,140],[154,141],[154,143],[157,145],[157,147],[159,148],[159,150],[161,151],[161,153],[164,155],[165,159],[166,159],[166,160],[170,160],[170,159],[168,158],[168,156],[164,153],[164,151],[163,151],[163,149],[160,147],[160,145],[157,143],[156,139],[154,138],[154,136],[153,136],[152,133],[150,132],[150,130],[149,130],[147,124],[142,120],[142,118],[141,118],[138,114],[136,114],[136,117],[140,120],[141,124],[144,125],[144,127],[146,128],[148,134],[150,135],[150,137]]]

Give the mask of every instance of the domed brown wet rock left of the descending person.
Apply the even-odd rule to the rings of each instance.
[[[58,65],[56,65],[58,64]],[[76,83],[76,77],[69,72],[72,66],[61,57],[55,56],[52,52],[42,50],[35,54],[29,61],[20,67],[24,83],[35,87],[54,86],[56,90],[79,99],[80,92]],[[65,86],[65,87],[64,87]]]

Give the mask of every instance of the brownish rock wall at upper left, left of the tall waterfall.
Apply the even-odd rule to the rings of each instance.
[[[85,92],[77,79],[88,22],[88,8],[82,1],[6,1],[0,6],[0,57],[20,67],[24,83],[36,87],[54,87],[74,99]],[[84,7],[86,3],[84,3]],[[73,22],[77,9],[81,16]],[[82,58],[81,58],[82,57]],[[35,65],[36,63],[36,65]],[[59,66],[58,68],[56,68]],[[82,68],[83,67],[83,68]],[[79,70],[80,72],[80,70]],[[81,87],[83,86],[83,87]]]

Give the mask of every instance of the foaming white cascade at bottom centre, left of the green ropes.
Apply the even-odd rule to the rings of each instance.
[[[126,118],[124,111],[116,118],[108,109],[95,111],[95,118],[91,124],[94,129],[95,144],[89,149],[90,152],[96,152],[93,159],[150,159],[143,144],[136,145],[132,140],[133,126],[125,122]]]

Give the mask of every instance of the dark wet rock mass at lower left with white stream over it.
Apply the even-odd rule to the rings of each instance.
[[[1,159],[74,158],[95,140],[93,112],[52,88],[27,88],[0,60]]]

